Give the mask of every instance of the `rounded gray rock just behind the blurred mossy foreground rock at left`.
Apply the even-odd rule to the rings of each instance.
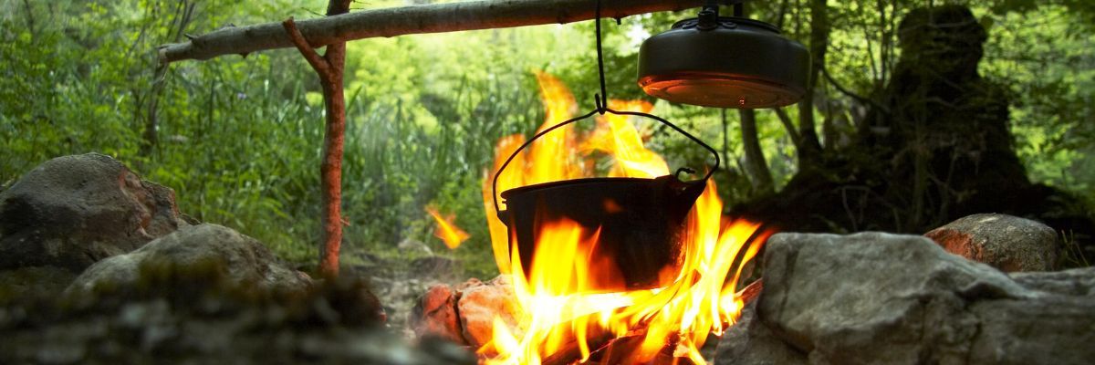
[[[302,289],[311,285],[307,274],[280,262],[255,239],[218,225],[187,226],[127,254],[100,261],[80,274],[68,290],[92,289],[100,283],[130,285],[143,265],[189,266],[216,263],[237,284],[267,288]]]

